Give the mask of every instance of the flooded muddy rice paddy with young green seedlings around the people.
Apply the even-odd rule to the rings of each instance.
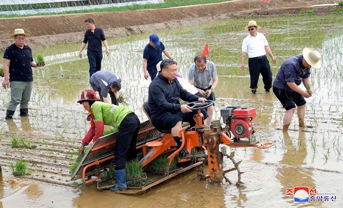
[[[248,34],[243,27],[250,19],[240,18],[169,31],[156,31],[166,49],[179,64],[179,74],[188,76],[193,58],[208,43],[208,59],[217,65],[215,118],[227,105],[255,107],[253,120],[266,149],[236,151],[242,181],[237,187],[226,182],[195,181],[190,171],[150,189],[142,196],[124,196],[98,191],[95,184],[71,186],[69,166],[89,128],[86,112],[76,103],[80,92],[89,89],[86,53],[78,58],[80,44],[56,45],[34,51],[41,53],[46,66],[34,70],[34,89],[28,119],[16,112],[12,122],[0,121],[0,165],[5,184],[0,185],[0,207],[342,207],[343,191],[343,33],[341,15],[282,16],[255,18],[266,34],[277,59],[271,65],[275,76],[280,64],[298,55],[304,47],[319,50],[322,67],[311,70],[312,97],[306,99],[306,125],[299,128],[295,114],[288,133],[282,133],[284,110],[273,93],[264,93],[260,79],[258,93],[249,89],[248,71],[240,70],[241,43]],[[150,81],[143,78],[142,54],[149,34],[107,39],[110,55],[102,60],[102,70],[119,75],[121,92],[141,121],[147,120],[142,103],[147,101]],[[29,39],[27,44],[30,45]],[[246,61],[247,66],[247,61]],[[0,117],[5,117],[10,90],[0,90]],[[19,111],[19,110],[18,110]],[[32,141],[35,150],[11,148],[14,137]],[[229,149],[229,148],[228,148]],[[10,163],[29,163],[31,175],[16,178]],[[230,160],[224,161],[227,167]],[[235,181],[237,173],[229,178]],[[294,202],[287,189],[316,188],[310,202]],[[324,200],[329,196],[329,200]],[[336,196],[336,201],[331,199]]]

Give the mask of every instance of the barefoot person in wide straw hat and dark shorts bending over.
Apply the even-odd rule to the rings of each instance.
[[[320,68],[320,58],[321,55],[318,51],[304,48],[302,55],[293,56],[281,64],[273,82],[273,92],[286,110],[283,116],[282,131],[288,130],[292,117],[296,112],[296,105],[299,126],[305,127],[306,101],[304,97],[308,98],[312,94],[310,68],[311,66]],[[307,91],[298,87],[301,83],[303,83]]]

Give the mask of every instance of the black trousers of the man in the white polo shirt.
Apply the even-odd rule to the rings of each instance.
[[[270,70],[270,65],[267,56],[263,55],[254,58],[249,58],[248,63],[250,73],[250,88],[257,89],[258,78],[261,73],[264,89],[269,90],[271,88],[273,74]]]

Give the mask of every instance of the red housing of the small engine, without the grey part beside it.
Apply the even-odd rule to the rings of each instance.
[[[233,111],[231,119],[231,132],[237,138],[248,137],[252,132],[251,120],[256,117],[256,108],[237,108]]]

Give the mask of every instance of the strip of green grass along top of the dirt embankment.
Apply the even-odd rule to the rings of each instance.
[[[212,4],[212,3],[228,2],[228,1],[230,1],[230,0],[165,0],[164,3],[160,3],[160,4],[145,4],[145,5],[133,4],[133,5],[128,5],[128,6],[123,6],[123,7],[95,8],[95,9],[89,9],[89,10],[65,11],[65,12],[61,12],[61,13],[55,13],[55,12],[53,12],[53,13],[40,13],[40,14],[34,14],[34,15],[0,15],[0,18],[163,9],[163,8],[182,7],[182,6],[189,6],[189,5]],[[40,4],[40,5],[42,5],[43,9],[47,8],[47,6],[48,6],[48,4]],[[36,9],[41,9],[40,5],[33,5],[33,6],[38,7]],[[51,3],[50,3],[50,5],[51,5]],[[22,6],[24,6],[24,5],[22,5]],[[27,6],[29,6],[29,5],[27,5]],[[58,7],[52,7],[52,8],[58,8]],[[3,11],[12,11],[12,9],[9,6],[1,6],[1,9]]]

